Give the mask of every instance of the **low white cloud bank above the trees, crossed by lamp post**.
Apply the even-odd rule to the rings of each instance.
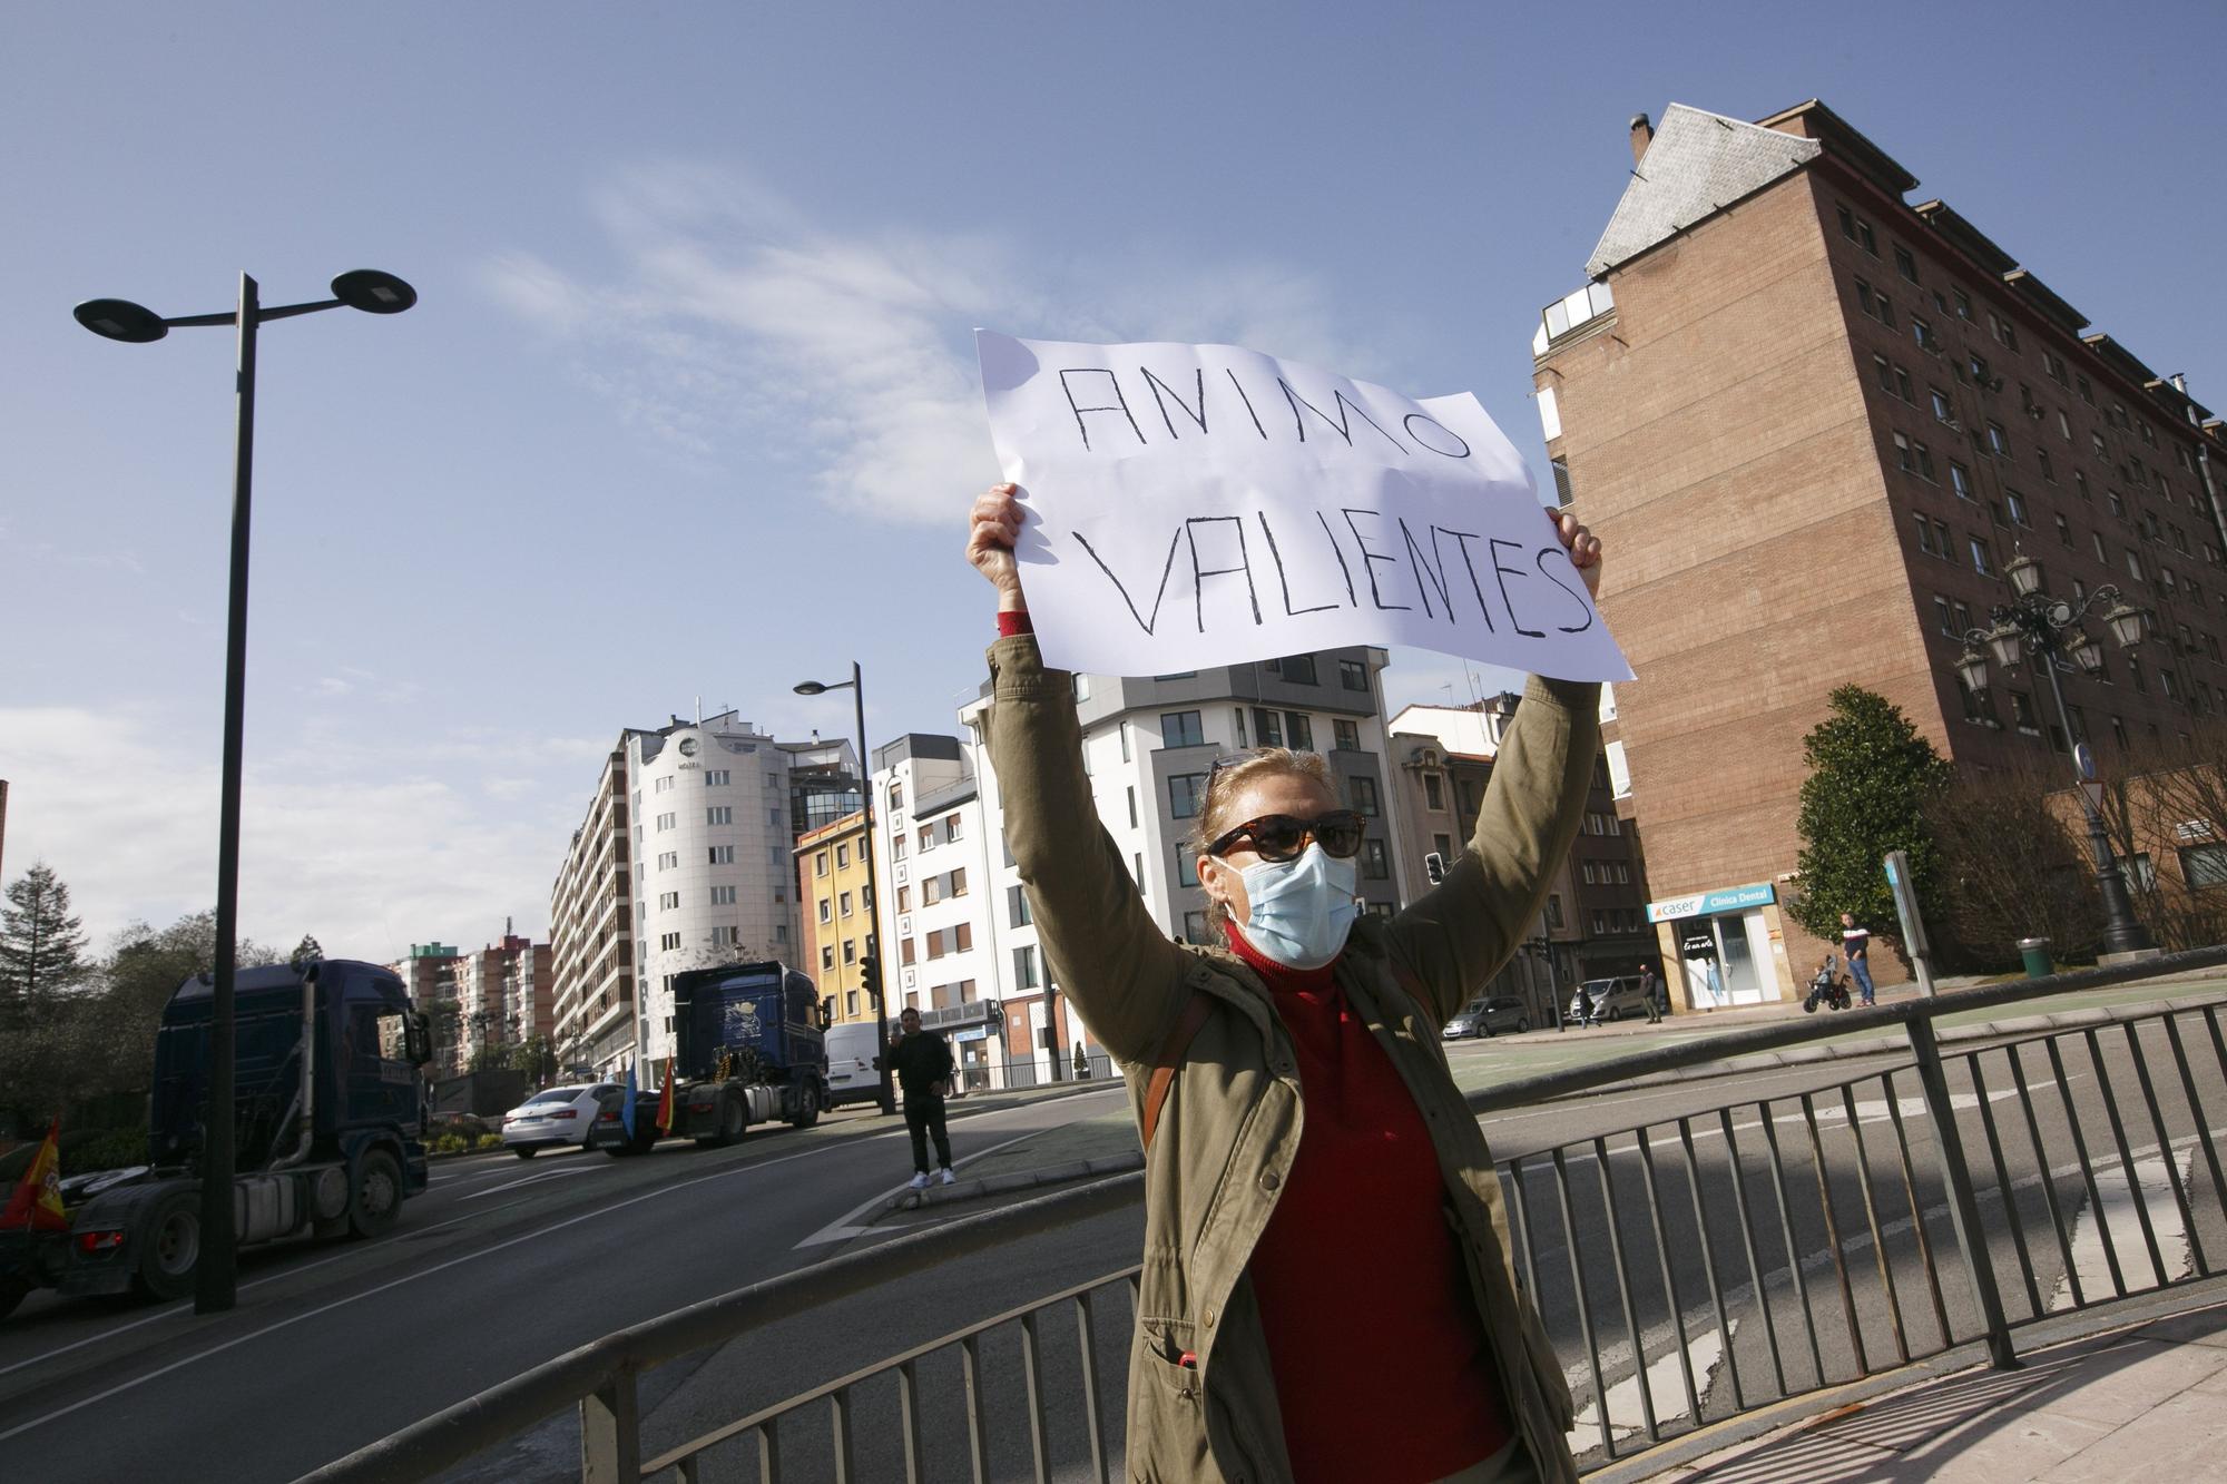
[[[241,804],[241,931],[316,934],[334,956],[481,943],[514,914],[543,934],[550,882],[608,746],[454,731],[405,751],[336,724],[249,758]],[[7,871],[47,860],[94,943],[216,902],[218,767],[151,713],[0,709]]]

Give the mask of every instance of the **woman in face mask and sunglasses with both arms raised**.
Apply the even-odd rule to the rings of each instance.
[[[1007,847],[1145,1141],[1129,1477],[1574,1480],[1570,1390],[1439,1027],[1523,940],[1577,836],[1599,686],[1532,680],[1477,838],[1394,918],[1356,911],[1361,820],[1318,755],[1216,764],[1196,847],[1227,945],[1176,945],[1098,824],[1073,677],[1044,668],[1020,590],[1022,517],[993,486],[967,559],[998,588]],[[1592,588],[1599,541],[1548,519]]]

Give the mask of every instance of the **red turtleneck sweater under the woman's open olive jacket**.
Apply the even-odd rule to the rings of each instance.
[[[1247,1272],[1298,1484],[1443,1480],[1512,1437],[1423,1112],[1332,969],[1287,969],[1232,925],[1276,994],[1305,1127]]]

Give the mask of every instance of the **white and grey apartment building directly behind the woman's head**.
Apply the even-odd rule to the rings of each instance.
[[[1385,767],[1381,648],[1332,648],[1258,664],[1234,664],[1183,675],[1078,675],[1076,711],[1082,722],[1082,760],[1091,778],[1098,820],[1129,862],[1145,905],[1169,936],[1207,940],[1205,891],[1198,887],[1189,833],[1205,800],[1214,760],[1252,746],[1318,751],[1367,833],[1361,847],[1361,896],[1370,911],[1396,911],[1412,891],[1414,853],[1401,838]],[[1038,1074],[1071,1070],[1082,1023],[1058,1000],[1056,1052],[1044,1038],[1047,994],[1056,996],[1020,873],[1004,853],[1002,802],[989,764],[984,713],[989,695],[960,709],[967,726],[964,767],[980,789],[991,853],[989,936],[995,998],[1004,1005],[1013,1058],[1033,1058]],[[884,804],[886,807],[886,804]],[[1078,842],[1080,847],[1080,842]],[[978,911],[982,911],[978,907]],[[987,992],[984,992],[987,994]]]

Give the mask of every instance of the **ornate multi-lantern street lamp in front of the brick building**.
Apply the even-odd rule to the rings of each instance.
[[[2145,617],[2140,608],[2129,608],[2120,590],[2105,584],[2089,593],[2078,606],[2051,597],[2042,590],[2042,564],[2027,555],[2011,557],[2004,568],[2011,579],[2013,599],[1989,611],[1991,626],[1973,628],[1964,635],[1964,653],[1958,657],[1958,677],[1971,693],[1986,691],[1986,660],[1995,657],[2004,671],[2018,668],[2022,660],[2033,660],[2033,668],[2049,675],[2049,695],[2058,704],[2058,724],[2064,729],[2064,746],[2073,751],[2073,771],[2080,782],[2080,807],[2089,820],[2089,849],[2096,856],[2096,885],[2102,889],[2102,947],[2107,954],[2138,954],[2156,949],[2149,929],[2133,916],[2133,900],[2127,896],[2127,878],[2111,853],[2111,838],[2102,827],[2102,811],[2096,807],[2089,784],[2093,762],[2087,746],[2073,735],[2071,713],[2064,709],[2064,689],[2058,684],[2058,668],[2078,664],[2084,675],[2102,673],[2102,644],[2080,628],[2089,608],[2111,604],[2098,617],[2111,631],[2122,651],[2142,642]]]

